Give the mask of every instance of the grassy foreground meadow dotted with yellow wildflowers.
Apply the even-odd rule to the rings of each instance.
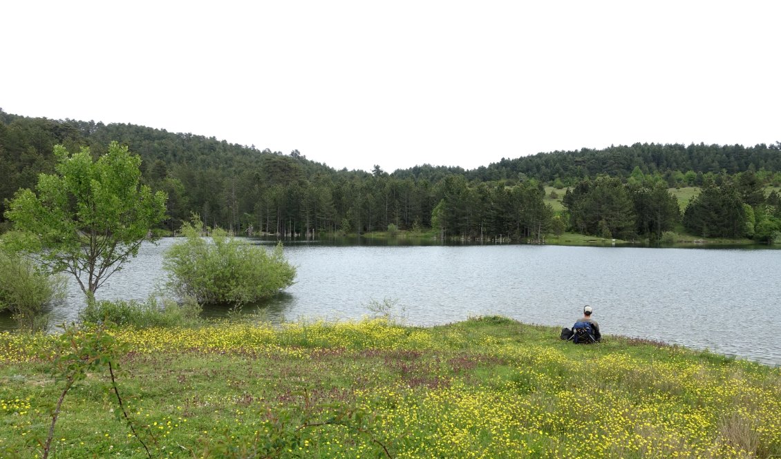
[[[781,369],[508,318],[112,332],[50,457],[779,457]],[[40,457],[52,336],[0,334],[0,456]]]

